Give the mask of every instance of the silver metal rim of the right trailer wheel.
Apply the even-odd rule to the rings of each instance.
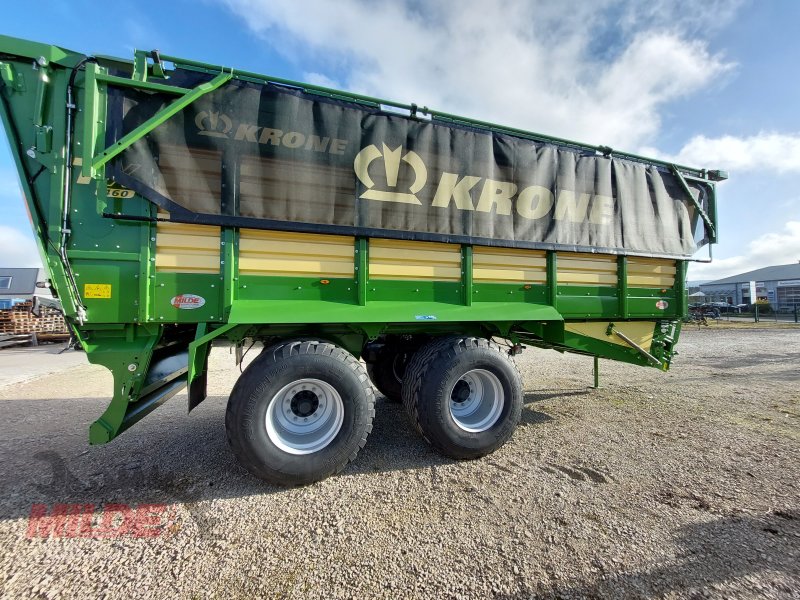
[[[497,423],[505,394],[497,375],[473,369],[461,376],[450,391],[450,416],[464,431],[480,433]]]

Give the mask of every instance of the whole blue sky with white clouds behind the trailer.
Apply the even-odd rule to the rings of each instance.
[[[108,4],[14,3],[3,33],[125,57],[158,48],[728,170],[715,261],[689,278],[800,260],[800,2]],[[37,264],[7,145],[0,203],[0,261]]]

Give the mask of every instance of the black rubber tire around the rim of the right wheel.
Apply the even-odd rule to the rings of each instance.
[[[465,431],[450,414],[453,388],[472,369],[493,373],[504,394],[498,420],[481,432]],[[436,450],[455,459],[480,458],[513,435],[522,416],[522,379],[508,353],[494,342],[474,337],[441,338],[423,346],[409,362],[403,381],[403,406]]]

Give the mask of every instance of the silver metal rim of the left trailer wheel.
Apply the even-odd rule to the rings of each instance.
[[[319,452],[333,441],[344,421],[342,396],[319,379],[298,379],[270,400],[266,427],[270,441],[289,454]]]

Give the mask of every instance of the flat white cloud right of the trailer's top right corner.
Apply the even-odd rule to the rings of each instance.
[[[652,148],[642,150],[658,155]],[[750,137],[698,135],[675,156],[661,155],[682,165],[700,165],[734,172],[767,170],[800,173],[800,133],[762,132]]]

